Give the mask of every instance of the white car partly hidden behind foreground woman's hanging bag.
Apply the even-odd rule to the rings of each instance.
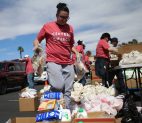
[[[38,76],[38,74],[34,74],[34,82],[45,82],[48,78],[46,67],[44,67],[44,70],[41,74],[41,76]]]

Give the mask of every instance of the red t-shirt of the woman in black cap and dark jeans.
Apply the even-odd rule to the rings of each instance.
[[[99,40],[96,48],[96,57],[109,58],[109,44],[105,40]]]

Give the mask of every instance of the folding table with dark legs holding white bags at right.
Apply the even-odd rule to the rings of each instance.
[[[142,63],[141,64],[128,64],[128,65],[116,66],[113,69],[114,70],[122,69],[124,71],[124,80],[125,80],[125,84],[126,84],[126,92],[128,91],[127,83],[126,83],[126,81],[127,81],[126,70],[127,69],[133,69],[133,74],[135,74],[135,80],[136,80],[137,89],[140,92],[141,106],[142,106],[142,82],[141,82],[142,72],[141,72],[141,68],[142,68]]]

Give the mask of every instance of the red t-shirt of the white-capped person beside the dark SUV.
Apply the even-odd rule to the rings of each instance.
[[[26,61],[26,74],[34,73],[31,58],[28,57],[25,58],[24,60]]]

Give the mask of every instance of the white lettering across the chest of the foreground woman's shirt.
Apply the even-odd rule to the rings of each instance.
[[[66,32],[53,32],[51,34],[53,36],[53,40],[58,40],[58,41],[70,41],[70,34]]]

